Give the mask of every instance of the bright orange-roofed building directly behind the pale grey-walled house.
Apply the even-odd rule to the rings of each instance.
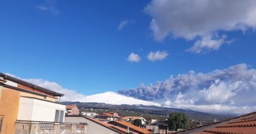
[[[134,131],[135,133],[139,133],[139,134],[150,134],[151,133],[147,129],[142,129],[140,127],[134,126],[133,124],[130,124],[129,122],[112,121],[112,122],[109,122],[109,124],[112,124],[117,127],[121,127],[123,129],[127,129],[129,127],[130,131]]]

